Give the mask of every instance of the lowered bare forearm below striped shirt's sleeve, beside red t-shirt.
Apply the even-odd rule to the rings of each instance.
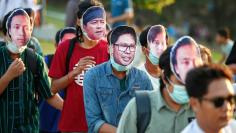
[[[48,98],[47,103],[53,106],[54,108],[62,111],[63,99],[58,95],[58,93]]]

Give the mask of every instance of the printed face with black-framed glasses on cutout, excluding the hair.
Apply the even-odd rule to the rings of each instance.
[[[127,66],[133,60],[136,51],[135,39],[131,34],[120,35],[113,44],[113,57],[116,63]]]

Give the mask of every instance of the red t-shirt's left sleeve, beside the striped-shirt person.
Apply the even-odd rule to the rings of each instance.
[[[52,63],[49,69],[49,77],[61,78],[66,74],[66,53],[69,47],[65,47],[69,41],[62,42],[53,56]]]

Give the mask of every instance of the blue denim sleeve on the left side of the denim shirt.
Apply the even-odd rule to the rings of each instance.
[[[89,132],[98,133],[100,127],[105,123],[102,109],[96,95],[95,72],[90,69],[84,77],[84,105]]]

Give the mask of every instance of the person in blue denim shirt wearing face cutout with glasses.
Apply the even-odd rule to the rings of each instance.
[[[84,79],[89,133],[116,132],[121,114],[139,90],[152,90],[145,72],[132,67],[137,37],[133,28],[118,26],[108,34],[110,61],[90,69]]]

